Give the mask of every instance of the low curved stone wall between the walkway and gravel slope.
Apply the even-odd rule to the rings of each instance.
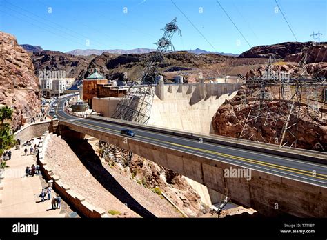
[[[83,217],[109,217],[105,210],[92,206],[92,204],[85,200],[85,197],[70,190],[70,187],[63,183],[60,177],[54,174],[52,169],[47,166],[45,156],[49,139],[49,132],[45,132],[41,137],[41,142],[39,143],[39,154],[37,161],[41,168],[43,177],[47,181],[53,180],[54,182],[52,188],[54,188],[54,190],[61,196],[61,198],[64,199],[70,206],[77,209],[79,213],[83,215]]]

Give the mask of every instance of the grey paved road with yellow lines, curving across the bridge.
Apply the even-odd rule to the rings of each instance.
[[[57,100],[55,114],[61,121],[70,121],[78,126],[84,126],[112,134],[120,134],[120,131],[126,129],[126,126],[119,124],[106,123],[92,119],[83,119],[72,116],[63,111],[63,105],[66,99]],[[53,115],[53,114],[52,114]],[[301,161],[288,157],[279,157],[273,154],[265,154],[253,150],[244,150],[230,146],[221,146],[215,143],[199,143],[192,139],[176,137],[169,134],[161,134],[150,130],[141,130],[138,128],[129,128],[135,132],[134,139],[155,143],[159,146],[166,146],[175,150],[181,150],[191,154],[232,163],[244,168],[268,172],[290,179],[305,181],[318,186],[327,187],[327,165]]]

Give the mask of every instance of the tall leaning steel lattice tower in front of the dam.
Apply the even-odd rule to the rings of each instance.
[[[175,32],[181,36],[181,30],[173,19],[163,28],[164,36],[157,41],[157,51],[152,53],[148,65],[144,69],[143,76],[138,82],[141,85],[130,86],[128,92],[117,104],[112,118],[133,121],[136,123],[148,123],[154,97],[154,86],[158,75],[159,63],[164,61],[164,53],[169,49],[175,50],[171,39]]]

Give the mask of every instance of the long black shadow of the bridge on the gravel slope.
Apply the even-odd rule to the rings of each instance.
[[[95,179],[103,188],[106,188],[112,195],[114,195],[122,203],[127,203],[128,208],[139,214],[141,217],[155,217],[149,210],[141,206],[119,182],[112,177],[112,175],[102,166],[101,160],[93,150],[92,146],[86,140],[81,139],[65,139],[66,143],[81,163],[89,170]]]

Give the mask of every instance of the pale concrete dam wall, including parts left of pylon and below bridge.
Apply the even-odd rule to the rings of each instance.
[[[226,99],[237,94],[241,83],[158,84],[148,124],[175,130],[212,133],[212,117]],[[93,109],[104,117],[112,117],[119,99],[93,99]],[[188,182],[208,206],[219,203],[221,194],[188,179]]]

